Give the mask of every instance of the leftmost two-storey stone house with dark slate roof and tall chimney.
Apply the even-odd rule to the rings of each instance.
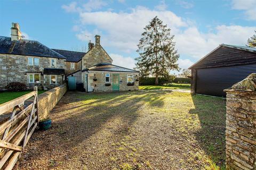
[[[14,81],[51,89],[65,80],[66,57],[38,41],[22,39],[18,23],[11,37],[0,36],[0,89]]]

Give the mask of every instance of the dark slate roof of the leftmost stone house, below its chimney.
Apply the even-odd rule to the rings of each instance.
[[[66,59],[38,41],[27,39],[12,41],[11,37],[3,36],[0,36],[0,53]]]

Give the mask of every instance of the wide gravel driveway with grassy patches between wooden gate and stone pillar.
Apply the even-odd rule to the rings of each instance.
[[[19,169],[225,169],[226,100],[185,92],[67,92]]]

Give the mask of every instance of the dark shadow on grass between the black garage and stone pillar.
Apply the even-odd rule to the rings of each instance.
[[[225,168],[226,99],[203,95],[191,97],[195,108],[189,113],[197,114],[201,124],[201,129],[195,132],[196,140],[213,163]]]

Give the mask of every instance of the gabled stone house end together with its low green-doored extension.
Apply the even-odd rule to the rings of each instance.
[[[110,92],[139,89],[139,72],[113,65],[113,60],[95,36],[95,45],[82,58],[82,81],[87,92]]]

